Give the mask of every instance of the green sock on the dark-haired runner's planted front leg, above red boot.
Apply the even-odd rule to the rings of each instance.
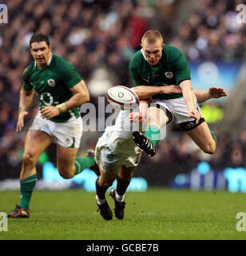
[[[30,198],[37,182],[37,174],[34,174],[21,181],[21,202],[20,207],[29,210]]]

